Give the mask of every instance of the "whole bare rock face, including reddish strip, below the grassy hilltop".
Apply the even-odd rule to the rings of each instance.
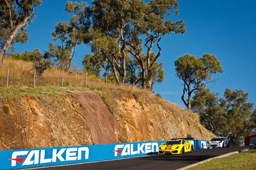
[[[88,91],[0,97],[0,150],[213,136],[178,106],[139,103],[134,97],[117,100],[115,113]]]

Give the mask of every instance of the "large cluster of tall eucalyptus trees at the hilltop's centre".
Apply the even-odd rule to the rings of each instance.
[[[70,6],[77,4],[69,2]],[[92,21],[89,45],[93,56],[99,62],[103,58],[109,63],[116,83],[152,89],[154,83],[164,79],[163,64],[157,63],[161,56],[161,40],[168,34],[186,31],[183,20],[172,22],[170,19],[179,13],[178,6],[177,0],[147,3],[140,0],[95,0],[92,1],[92,13],[76,16],[80,16],[79,20]],[[82,11],[76,7],[73,9],[77,9],[72,10],[74,14]],[[84,27],[81,24],[80,28]],[[85,59],[84,64],[89,61]]]

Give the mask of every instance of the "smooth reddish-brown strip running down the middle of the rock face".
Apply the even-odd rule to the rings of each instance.
[[[93,144],[118,143],[118,122],[102,99],[93,92],[72,92],[86,112]]]

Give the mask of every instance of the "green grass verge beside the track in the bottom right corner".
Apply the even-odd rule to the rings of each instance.
[[[256,150],[212,159],[204,164],[189,168],[189,170],[193,169],[256,169]]]

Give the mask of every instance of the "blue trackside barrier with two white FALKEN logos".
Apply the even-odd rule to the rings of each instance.
[[[158,147],[163,142],[148,141],[28,150],[2,150],[0,151],[0,169],[59,166],[64,164],[141,157],[158,152]]]

